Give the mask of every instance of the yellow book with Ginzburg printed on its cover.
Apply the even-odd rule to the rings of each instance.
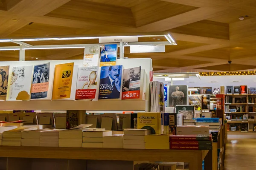
[[[138,129],[150,129],[151,134],[163,134],[163,113],[138,113]]]

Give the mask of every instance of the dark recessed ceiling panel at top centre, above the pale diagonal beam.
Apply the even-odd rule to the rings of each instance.
[[[186,6],[177,3],[169,3],[160,0],[148,0],[131,8],[135,18],[136,26],[144,26],[154,23],[187,11],[197,9],[197,7]]]

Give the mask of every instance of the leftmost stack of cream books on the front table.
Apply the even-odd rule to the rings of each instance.
[[[3,146],[21,146],[21,130],[4,131],[2,145]]]

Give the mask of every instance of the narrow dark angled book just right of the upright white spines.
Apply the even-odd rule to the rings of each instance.
[[[163,82],[155,82],[156,83],[156,104],[157,104],[157,112],[164,113],[164,90],[163,90]]]

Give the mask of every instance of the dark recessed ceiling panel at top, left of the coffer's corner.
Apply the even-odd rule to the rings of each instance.
[[[117,26],[135,26],[134,17],[130,8],[111,6],[104,3],[93,3],[85,0],[71,0],[49,12],[46,16],[90,21],[92,23],[108,23]]]

